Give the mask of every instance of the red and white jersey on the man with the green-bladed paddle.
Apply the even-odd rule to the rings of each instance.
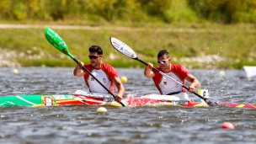
[[[108,88],[111,93],[114,93],[115,83],[112,79],[119,77],[114,67],[111,67],[106,63],[102,63],[100,69],[94,69],[92,64],[85,65],[84,67],[87,68],[100,83]],[[83,77],[91,93],[109,93],[91,75],[89,75],[88,72],[86,72]]]

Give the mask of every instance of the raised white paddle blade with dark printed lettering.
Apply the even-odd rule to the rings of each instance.
[[[125,45],[125,43],[123,43],[122,41],[110,37],[110,43],[111,45],[113,45],[115,50],[120,51],[120,53],[124,54],[125,56],[136,59],[136,53],[131,49],[131,47]]]

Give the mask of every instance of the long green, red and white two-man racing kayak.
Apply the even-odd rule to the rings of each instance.
[[[78,93],[77,93],[78,92]],[[103,106],[122,106],[115,102],[115,99],[109,94],[88,93],[77,91],[68,94],[31,94],[31,95],[8,95],[0,97],[1,107],[13,106],[61,106],[61,105],[103,105]],[[81,93],[82,92],[82,93]],[[201,107],[203,103],[180,99],[176,95],[147,94],[141,97],[126,97],[122,102],[130,107],[153,106],[153,105],[176,105],[185,107]],[[256,109],[256,105],[221,103],[222,106],[235,108]]]

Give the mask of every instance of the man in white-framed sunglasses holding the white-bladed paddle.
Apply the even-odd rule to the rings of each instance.
[[[159,71],[164,72],[169,77],[173,77],[173,79],[177,80],[179,83],[185,84],[185,80],[189,81],[189,92],[194,93],[195,88],[200,86],[199,81],[194,77],[189,70],[181,65],[171,64],[171,58],[169,56],[168,51],[161,50],[157,54],[157,63],[158,67],[156,67]],[[157,89],[163,95],[180,95],[183,98],[180,99],[188,99],[189,96],[186,92],[186,89],[183,88],[179,83],[173,81],[168,77],[163,76],[157,71],[152,69],[153,64],[148,62],[147,67],[145,67],[144,75],[148,78],[152,78]],[[180,94],[184,93],[184,94]]]

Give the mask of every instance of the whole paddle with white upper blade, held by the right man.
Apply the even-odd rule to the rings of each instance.
[[[142,61],[141,59],[139,59],[137,56],[136,56],[136,53],[131,49],[131,47],[129,47],[128,45],[125,45],[124,42],[120,41],[120,40],[117,40],[113,37],[110,37],[110,43],[111,45],[113,45],[113,47],[115,48],[115,50],[117,51],[120,51],[120,53],[124,54],[125,56],[128,56],[136,61],[140,61],[141,63],[147,65],[147,63],[145,61]],[[162,74],[163,76],[165,77],[168,77],[170,79],[172,79],[174,82],[176,83],[179,83],[177,80],[173,79],[173,77],[169,77],[167,74],[157,70],[157,68],[153,67],[153,69],[157,72],[159,72],[160,74]],[[186,88],[187,90],[189,90],[189,88],[187,88],[186,86],[184,86],[182,83],[179,83],[183,88]],[[208,105],[211,105],[211,106],[216,106],[216,105],[219,105],[217,102],[213,102],[211,101],[211,99],[207,99],[207,98],[204,98],[202,97],[200,94],[198,93],[195,93],[194,94],[196,96],[198,96],[200,99],[204,99],[206,104]]]

